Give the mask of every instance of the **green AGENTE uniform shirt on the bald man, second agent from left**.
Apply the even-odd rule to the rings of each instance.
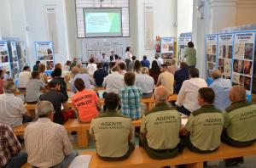
[[[176,109],[157,104],[143,115],[141,132],[146,133],[148,146],[154,149],[176,148],[180,142],[181,118]]]

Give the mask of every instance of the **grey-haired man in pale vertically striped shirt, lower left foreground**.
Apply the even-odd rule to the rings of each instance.
[[[67,167],[78,155],[64,126],[55,124],[55,109],[49,101],[36,105],[38,120],[24,132],[27,162],[34,167]]]

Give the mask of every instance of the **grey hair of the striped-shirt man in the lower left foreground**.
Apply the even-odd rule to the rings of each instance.
[[[36,116],[38,118],[45,117],[49,114],[49,112],[54,111],[53,104],[51,104],[49,101],[40,101],[38,104],[36,104],[35,108]]]

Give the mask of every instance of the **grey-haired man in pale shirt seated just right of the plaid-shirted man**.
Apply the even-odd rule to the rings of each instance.
[[[149,76],[147,67],[143,67],[142,74],[136,76],[135,85],[142,89],[142,98],[152,98],[154,92],[154,79]]]

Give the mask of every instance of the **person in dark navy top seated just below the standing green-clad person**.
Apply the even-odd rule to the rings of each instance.
[[[180,88],[183,85],[183,81],[189,80],[189,66],[182,62],[180,63],[180,69],[174,74],[174,92],[178,94]]]

